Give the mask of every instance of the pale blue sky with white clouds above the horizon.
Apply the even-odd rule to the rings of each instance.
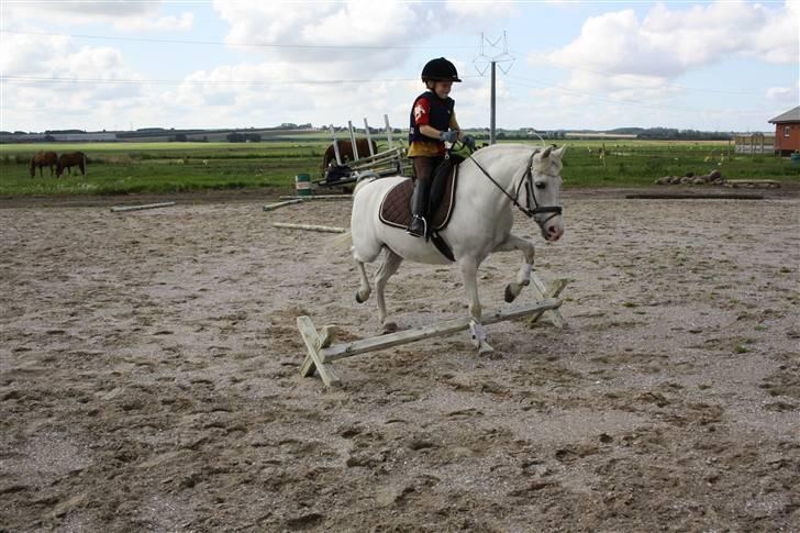
[[[464,79],[460,124],[484,127],[481,34],[485,55],[513,58],[498,71],[498,127],[770,131],[800,104],[800,0],[2,0],[0,30],[10,131],[380,125],[385,113],[404,127],[438,56]]]

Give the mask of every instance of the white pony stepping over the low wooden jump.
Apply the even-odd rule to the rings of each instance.
[[[521,144],[497,144],[476,152],[458,167],[455,209],[440,235],[449,245],[462,270],[473,319],[473,340],[480,352],[492,348],[486,343],[486,332],[480,325],[478,267],[492,252],[519,249],[524,263],[516,281],[505,288],[505,301],[512,301],[522,287],[530,284],[534,247],[529,241],[511,234],[512,207],[533,216],[545,241],[557,241],[564,234],[560,200],[564,151],[565,147],[542,149]],[[356,300],[365,302],[371,292],[364,264],[375,262],[381,251],[386,251],[384,263],[375,275],[379,319],[385,332],[396,330],[397,325],[386,321],[384,290],[402,260],[434,265],[449,263],[431,241],[380,222],[384,197],[402,179],[405,178],[362,181],[353,192],[351,249],[360,274]]]

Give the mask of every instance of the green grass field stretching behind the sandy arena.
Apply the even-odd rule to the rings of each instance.
[[[534,143],[531,143],[534,144]],[[560,144],[560,143],[559,143]],[[800,167],[771,155],[735,155],[727,143],[566,141],[565,187],[637,187],[655,178],[719,169],[729,179],[800,182]],[[297,174],[320,176],[326,142],[319,136],[262,143],[81,143],[0,145],[0,196],[168,193],[200,189],[293,187]],[[604,147],[604,149],[603,149]],[[41,149],[82,151],[86,177],[31,178]]]

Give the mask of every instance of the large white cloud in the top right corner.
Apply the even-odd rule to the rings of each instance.
[[[718,1],[670,10],[657,4],[642,21],[630,9],[605,13],[588,19],[565,47],[531,54],[529,64],[575,68],[569,86],[586,91],[633,90],[643,80],[666,86],[692,69],[736,55],[798,64],[798,5]]]

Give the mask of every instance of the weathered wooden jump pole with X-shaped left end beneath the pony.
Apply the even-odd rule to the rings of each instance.
[[[557,298],[548,298],[546,300],[529,303],[512,309],[491,311],[484,313],[480,323],[493,324],[505,320],[512,320],[521,317],[541,315],[545,311],[555,310],[560,307],[562,300]],[[333,370],[332,363],[344,357],[352,357],[358,354],[386,349],[402,344],[409,344],[424,338],[435,336],[449,335],[459,331],[468,330],[473,319],[464,317],[460,319],[440,322],[438,324],[426,325],[422,327],[412,327],[410,330],[390,333],[388,335],[379,335],[348,343],[331,344],[333,334],[330,326],[324,326],[318,332],[311,319],[308,317],[298,317],[297,326],[300,335],[305,343],[308,355],[300,368],[300,375],[303,377],[312,376],[314,370],[320,373],[320,377],[325,386],[331,387],[341,382],[338,376]]]

